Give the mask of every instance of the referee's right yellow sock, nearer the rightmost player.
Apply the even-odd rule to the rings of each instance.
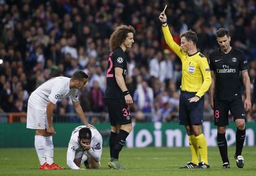
[[[199,136],[195,136],[198,145],[198,151],[201,156],[201,161],[208,164],[208,154],[207,154],[207,141],[203,133]]]

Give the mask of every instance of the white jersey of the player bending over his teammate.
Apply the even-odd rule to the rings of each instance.
[[[48,101],[56,104],[58,99],[67,98],[73,101],[79,101],[78,90],[69,88],[70,78],[54,77],[36,88],[30,95],[28,104],[34,109],[46,110]]]

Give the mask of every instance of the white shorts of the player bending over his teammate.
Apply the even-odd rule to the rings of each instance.
[[[34,109],[28,104],[27,128],[36,130],[44,130],[48,128],[46,111]]]

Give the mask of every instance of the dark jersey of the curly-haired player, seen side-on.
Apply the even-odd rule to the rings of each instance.
[[[109,54],[108,58],[108,70],[106,72],[106,91],[104,98],[111,99],[122,99],[122,90],[119,88],[115,78],[114,68],[120,67],[122,71],[122,76],[124,77],[124,82],[126,82],[127,74],[127,59],[126,53],[122,48],[118,47],[114,49],[113,52]]]

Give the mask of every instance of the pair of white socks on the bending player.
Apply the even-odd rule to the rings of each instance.
[[[53,164],[53,136],[35,135],[35,149],[40,162],[40,165],[47,162]]]

